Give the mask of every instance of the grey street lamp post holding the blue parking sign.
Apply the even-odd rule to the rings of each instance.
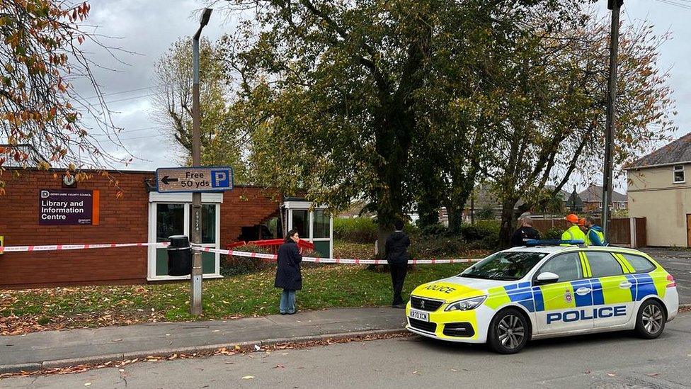
[[[193,84],[192,84],[192,166],[200,167],[201,165],[201,130],[200,130],[200,115],[199,115],[199,37],[202,34],[202,28],[209,23],[212,9],[206,8],[202,12],[199,19],[199,29],[195,33],[192,40],[192,67],[193,67]],[[193,244],[202,243],[202,193],[192,193],[192,234],[190,240]],[[191,279],[191,298],[190,311],[192,315],[199,316],[202,314],[202,253],[198,250],[193,250],[192,258],[192,275]]]

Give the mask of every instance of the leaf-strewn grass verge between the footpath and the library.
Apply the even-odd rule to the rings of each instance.
[[[421,283],[458,274],[467,264],[418,265],[406,276],[404,293]],[[199,320],[278,313],[275,267],[204,282]],[[312,265],[302,269],[300,310],[388,305],[389,274],[365,266]],[[0,291],[0,334],[48,329],[105,327],[137,322],[195,320],[189,314],[189,284],[84,286]]]

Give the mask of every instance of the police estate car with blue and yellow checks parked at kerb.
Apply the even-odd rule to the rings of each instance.
[[[647,254],[556,243],[529,242],[418,286],[406,328],[513,354],[530,339],[571,334],[632,329],[654,339],[677,315],[674,277]]]

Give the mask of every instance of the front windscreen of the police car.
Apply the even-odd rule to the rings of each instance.
[[[469,267],[459,276],[486,280],[519,280],[546,255],[543,252],[498,252]]]

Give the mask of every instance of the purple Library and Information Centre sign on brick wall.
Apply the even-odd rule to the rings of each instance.
[[[41,189],[39,225],[98,225],[98,191]]]

